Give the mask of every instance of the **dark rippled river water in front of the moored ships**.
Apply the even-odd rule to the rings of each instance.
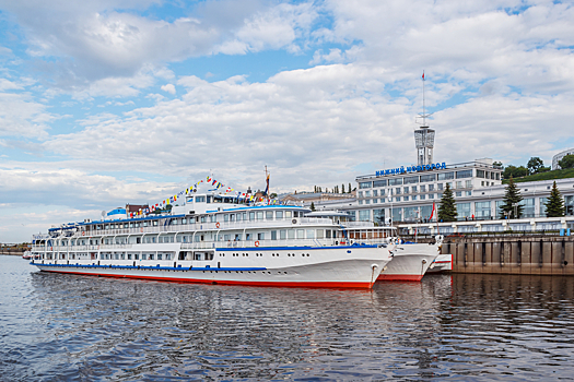
[[[372,291],[38,272],[0,255],[0,380],[571,380],[574,278]]]

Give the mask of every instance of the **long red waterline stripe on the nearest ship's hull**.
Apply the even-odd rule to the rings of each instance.
[[[189,284],[221,284],[221,285],[246,285],[246,286],[272,286],[272,287],[294,287],[294,288],[353,288],[353,289],[371,289],[371,283],[362,282],[237,282],[237,280],[211,280],[198,278],[177,278],[177,277],[156,277],[156,276],[134,276],[134,275],[114,275],[102,273],[83,273],[83,272],[60,272],[60,271],[45,271],[54,273],[65,273],[82,276],[99,276],[113,278],[137,278],[150,279],[155,282],[171,282],[171,283],[189,283]]]

